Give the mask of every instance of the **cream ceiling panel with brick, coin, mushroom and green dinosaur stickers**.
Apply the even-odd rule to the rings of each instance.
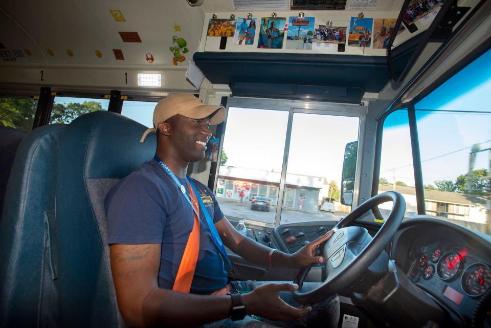
[[[185,1],[124,0],[109,5],[97,0],[26,0],[2,3],[0,28],[5,50],[24,55],[17,61],[151,68],[174,66],[175,54],[169,49],[175,46],[173,36],[182,39],[179,50],[189,58],[198,45],[203,18]]]

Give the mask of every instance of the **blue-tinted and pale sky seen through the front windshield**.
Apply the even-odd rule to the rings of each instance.
[[[469,169],[470,147],[491,147],[491,50],[415,105],[423,182],[452,180]],[[459,112],[450,112],[459,111]],[[464,113],[464,111],[480,113]],[[384,123],[381,177],[414,186],[407,111]],[[437,157],[437,158],[435,158]],[[479,152],[474,169],[488,168],[488,152]]]

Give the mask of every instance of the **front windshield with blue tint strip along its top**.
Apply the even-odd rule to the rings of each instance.
[[[487,51],[415,104],[426,214],[488,235],[490,62]],[[393,112],[384,122],[378,192],[403,194],[407,217],[417,213],[411,154],[408,111]]]

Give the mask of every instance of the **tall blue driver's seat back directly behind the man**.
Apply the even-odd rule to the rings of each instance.
[[[156,138],[111,112],[75,119],[59,144],[56,186],[60,327],[125,327],[111,276],[104,197],[151,160]]]

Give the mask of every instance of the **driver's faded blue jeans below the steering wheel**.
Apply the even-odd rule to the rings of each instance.
[[[283,281],[239,281],[242,286],[242,292],[253,291],[256,287],[264,285],[268,282],[283,282]],[[314,290],[320,286],[320,282],[304,282],[302,291]],[[280,297],[292,307],[298,307],[298,303],[293,299],[291,292],[280,292]],[[311,304],[312,311],[297,322],[280,322],[268,319],[256,319],[251,316],[245,316],[242,320],[232,321],[230,319],[218,320],[202,326],[202,328],[297,328],[297,327],[325,327],[336,328],[339,320],[339,297],[334,295],[325,300]]]

